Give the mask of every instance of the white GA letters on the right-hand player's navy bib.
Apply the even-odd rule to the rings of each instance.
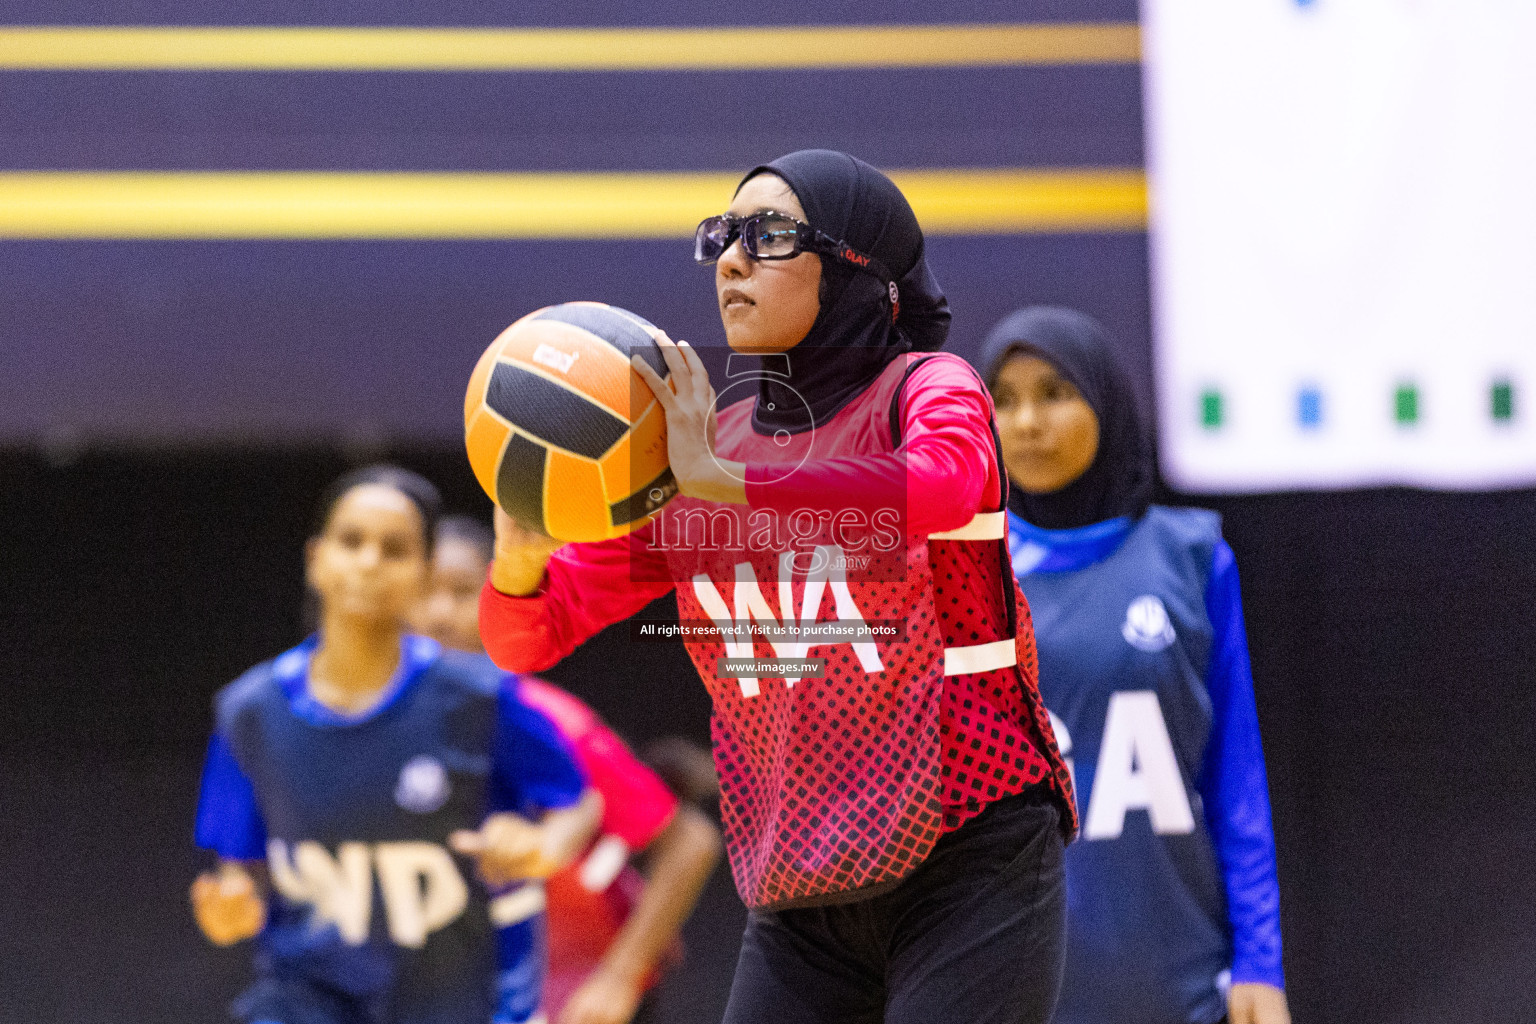
[[[1057,748],[1066,757],[1072,737],[1055,714],[1051,715]],[[1068,758],[1068,769],[1072,761]],[[1074,771],[1074,783],[1077,772]],[[1081,789],[1078,791],[1081,792]],[[1104,740],[1083,821],[1084,840],[1114,840],[1126,827],[1126,812],[1146,811],[1158,835],[1187,835],[1195,831],[1195,815],[1178,772],[1178,758],[1163,720],[1163,706],[1150,689],[1134,689],[1109,697],[1104,714]]]

